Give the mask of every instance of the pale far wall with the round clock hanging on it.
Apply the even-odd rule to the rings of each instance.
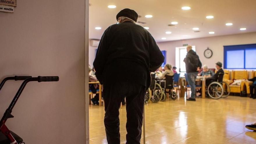
[[[183,44],[195,45],[196,53],[198,54],[202,64],[208,65],[209,68],[214,68],[217,61],[223,63],[223,45],[242,45],[252,43],[256,43],[256,32],[160,42],[157,44],[161,50],[167,51],[166,62],[172,65],[175,65],[175,47],[182,47]],[[204,51],[207,47],[213,51],[213,56],[211,58],[205,58],[204,56]]]

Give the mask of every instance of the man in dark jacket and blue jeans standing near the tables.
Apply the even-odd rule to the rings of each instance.
[[[191,88],[191,97],[187,100],[195,101],[195,79],[198,71],[202,67],[202,63],[195,51],[192,50],[191,45],[187,46],[187,52],[188,53],[186,55],[186,58],[184,59],[184,62],[186,63],[187,79]]]

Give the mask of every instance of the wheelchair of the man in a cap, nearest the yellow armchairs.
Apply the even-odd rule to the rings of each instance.
[[[208,79],[207,83],[210,84],[206,86],[206,93],[209,97],[219,99],[221,97],[226,98],[230,94],[230,86],[226,82],[222,81],[223,76],[224,73],[219,73],[217,81]]]

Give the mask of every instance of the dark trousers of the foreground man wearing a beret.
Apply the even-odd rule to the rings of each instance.
[[[103,96],[105,103],[104,124],[109,144],[120,144],[119,108],[126,96],[126,141],[127,144],[140,144],[145,86],[129,82],[104,84]]]

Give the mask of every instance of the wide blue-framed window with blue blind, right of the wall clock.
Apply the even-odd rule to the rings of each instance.
[[[256,69],[256,44],[224,46],[225,69]]]

